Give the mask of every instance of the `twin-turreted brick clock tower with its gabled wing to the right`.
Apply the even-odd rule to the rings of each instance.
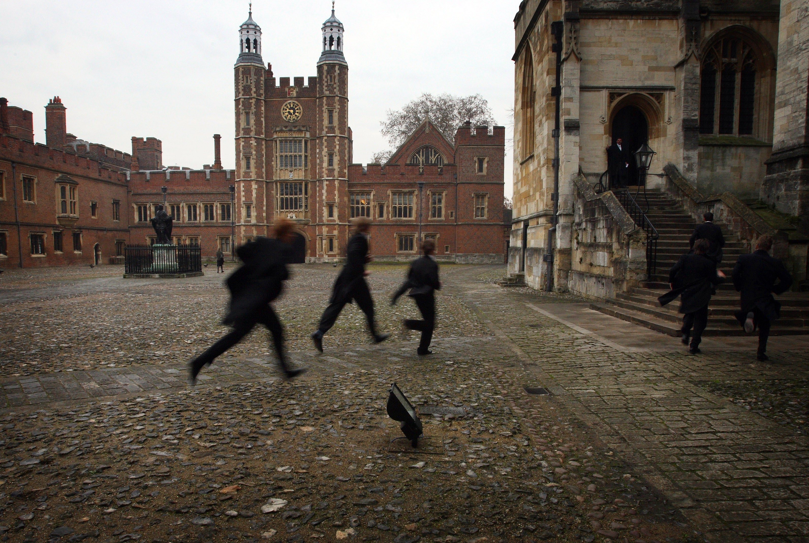
[[[317,76],[278,78],[261,58],[252,14],[235,65],[236,241],[266,235],[276,216],[303,233],[299,261],[344,256],[351,218],[373,221],[371,252],[410,259],[433,238],[438,257],[502,262],[505,129],[464,126],[451,146],[429,120],[384,165],[353,163],[344,28],[332,10]]]

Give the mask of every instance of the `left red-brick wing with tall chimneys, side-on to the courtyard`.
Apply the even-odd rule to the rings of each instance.
[[[32,112],[0,98],[0,267],[106,264],[129,242],[129,155],[67,134],[58,97],[45,116],[42,145]]]

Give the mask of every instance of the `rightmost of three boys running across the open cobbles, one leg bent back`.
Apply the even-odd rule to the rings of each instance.
[[[434,241],[425,240],[421,244],[421,252],[424,255],[410,264],[407,280],[393,295],[391,305],[395,305],[396,300],[404,294],[404,291],[410,289],[409,296],[416,302],[424,320],[404,320],[404,327],[421,331],[421,341],[418,344],[417,353],[424,356],[433,352],[430,350],[430,341],[433,340],[433,330],[435,329],[435,291],[441,290],[441,282],[438,281],[438,263],[433,258]]]

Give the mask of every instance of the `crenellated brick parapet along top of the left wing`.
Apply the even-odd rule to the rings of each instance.
[[[107,164],[73,151],[54,149],[11,134],[0,134],[0,160],[14,160],[33,167],[49,168],[67,175],[126,182],[126,174]]]

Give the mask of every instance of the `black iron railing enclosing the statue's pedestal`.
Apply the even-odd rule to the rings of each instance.
[[[193,274],[202,271],[200,248],[192,245],[127,245],[124,273]]]

